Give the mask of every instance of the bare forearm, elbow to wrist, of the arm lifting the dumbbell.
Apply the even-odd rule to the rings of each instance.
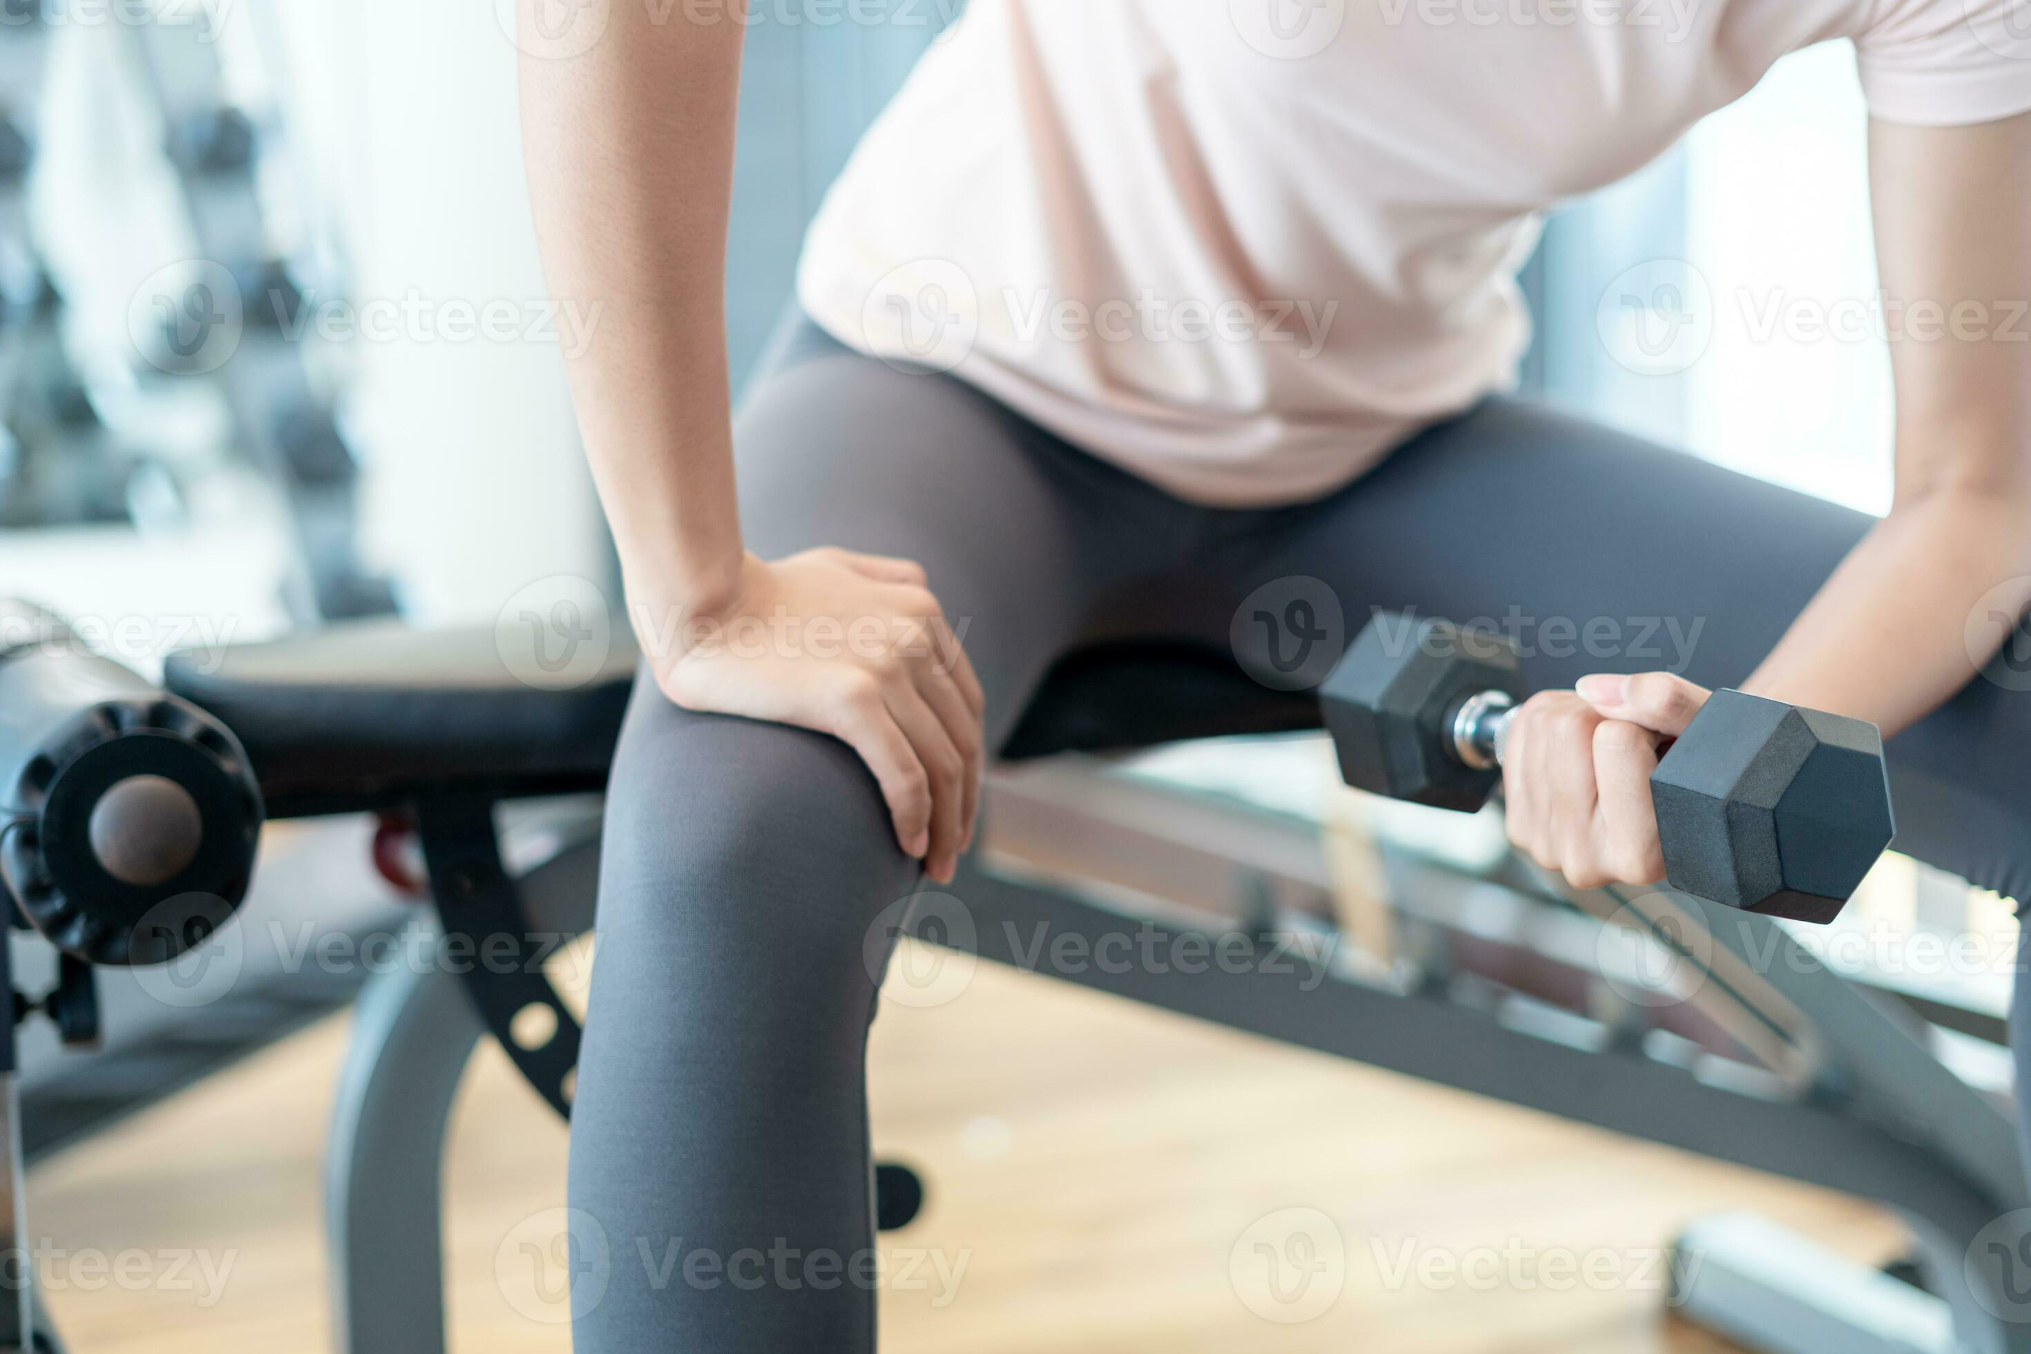
[[[1743,688],[1897,733],[1968,684],[1988,658],[1968,652],[1970,613],[2017,581],[1996,609],[2019,615],[2031,599],[2027,574],[2031,495],[1944,487],[1909,497],[1834,570]]]

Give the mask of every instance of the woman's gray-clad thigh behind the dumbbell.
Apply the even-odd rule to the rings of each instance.
[[[1491,625],[1521,644],[1531,686],[1657,668],[1734,686],[1871,522],[1493,400],[1330,499],[1271,514],[1245,577],[1326,581],[1351,631],[1377,607]]]

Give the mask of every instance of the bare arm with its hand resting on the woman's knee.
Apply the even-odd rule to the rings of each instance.
[[[902,851],[951,879],[979,802],[983,696],[924,570],[741,544],[723,276],[745,4],[605,6],[581,51],[575,28],[559,45],[534,22],[540,2],[518,0],[536,240],[550,292],[597,315],[571,392],[656,684],[693,710],[841,739]],[[741,641],[818,619],[875,619],[888,644]]]

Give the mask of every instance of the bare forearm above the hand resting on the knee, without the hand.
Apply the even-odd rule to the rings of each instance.
[[[591,51],[522,57],[544,278],[595,315],[567,361],[579,428],[630,589],[658,605],[711,605],[741,560],[723,282],[737,8],[611,6]]]

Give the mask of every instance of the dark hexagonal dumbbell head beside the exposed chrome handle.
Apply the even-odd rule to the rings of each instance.
[[[1452,715],[1483,690],[1523,698],[1517,648],[1485,629],[1379,611],[1318,686],[1318,700],[1355,790],[1434,808],[1489,802],[1497,769],[1452,751]]]

